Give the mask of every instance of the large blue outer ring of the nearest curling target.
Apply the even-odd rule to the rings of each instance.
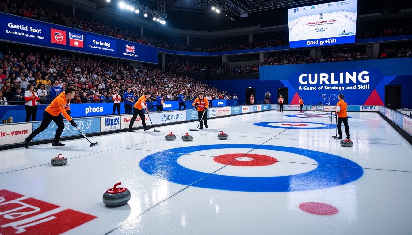
[[[298,175],[240,177],[199,172],[177,163],[180,156],[194,151],[238,148],[267,149],[301,154],[317,161],[318,167]],[[143,158],[140,161],[140,168],[147,174],[177,184],[248,192],[289,192],[330,188],[350,183],[363,175],[363,169],[360,165],[336,155],[308,149],[255,144],[214,144],[168,149]]]

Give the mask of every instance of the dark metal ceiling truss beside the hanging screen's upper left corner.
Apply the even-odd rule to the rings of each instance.
[[[252,12],[287,7],[299,4],[309,4],[321,0],[199,0],[224,10],[227,16],[247,16]]]

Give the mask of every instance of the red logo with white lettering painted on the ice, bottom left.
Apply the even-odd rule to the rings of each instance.
[[[12,191],[0,190],[2,235],[58,235],[96,218]]]

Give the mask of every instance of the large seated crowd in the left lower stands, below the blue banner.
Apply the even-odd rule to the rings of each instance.
[[[226,94],[170,71],[137,68],[105,60],[56,54],[40,56],[36,52],[3,55],[1,51],[0,60],[0,100],[7,98],[9,105],[23,104],[24,95],[21,94],[30,84],[35,86],[40,104],[51,102],[68,86],[75,87],[73,103],[111,102],[115,91],[123,95],[127,88],[131,88],[137,97],[150,91],[152,100],[155,100],[158,91],[164,100],[178,100],[180,91],[183,91],[187,100],[194,100],[199,92]]]

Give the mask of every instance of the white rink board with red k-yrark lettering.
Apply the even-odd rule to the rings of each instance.
[[[31,123],[0,125],[0,143],[15,144],[24,142],[24,138],[32,133]]]

